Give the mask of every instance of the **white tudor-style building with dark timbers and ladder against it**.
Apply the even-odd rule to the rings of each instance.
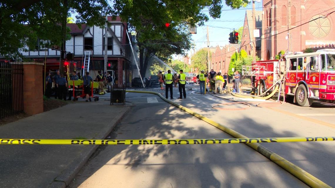
[[[109,16],[108,21],[112,26],[108,27],[107,31],[107,71],[115,71],[118,85],[126,84],[129,86],[135,66],[132,66],[134,57],[127,34],[129,34],[130,40],[132,37],[130,33],[127,33],[127,23],[122,22],[120,17],[112,20],[112,17]],[[66,41],[66,51],[74,54],[71,65],[75,65],[77,72],[82,72],[85,52],[86,56],[90,53],[89,72],[95,79],[97,71],[104,71],[105,28],[86,24],[81,24],[81,27],[78,27],[75,23],[68,23],[67,27],[70,28],[71,39]],[[47,71],[59,69],[60,52],[42,48],[39,43],[40,41],[37,42],[35,49],[28,52],[21,51],[23,56],[39,62],[44,62],[46,59]]]

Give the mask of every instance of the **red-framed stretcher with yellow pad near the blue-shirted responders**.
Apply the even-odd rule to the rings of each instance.
[[[68,81],[68,85],[71,88],[71,89],[69,89],[69,91],[72,90],[73,101],[77,101],[78,98],[83,98],[84,99],[86,97],[86,94],[84,92],[83,83],[84,83],[83,80],[69,80]],[[93,90],[98,89],[98,88],[99,88],[99,83],[92,81],[92,83],[91,83],[91,94],[89,95],[89,97],[94,98],[94,101],[99,100],[98,96],[93,95]],[[76,92],[80,92],[80,91],[81,91],[81,94],[79,96],[76,95]]]

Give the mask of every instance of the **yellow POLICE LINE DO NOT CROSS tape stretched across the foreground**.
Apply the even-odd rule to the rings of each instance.
[[[46,145],[187,145],[187,144],[239,144],[334,141],[331,137],[274,137],[274,138],[224,138],[224,139],[6,139],[1,144],[46,144]]]

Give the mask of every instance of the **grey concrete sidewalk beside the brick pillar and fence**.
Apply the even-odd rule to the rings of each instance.
[[[0,138],[104,139],[130,107],[73,104],[0,126]],[[0,145],[0,187],[65,188],[97,145]]]

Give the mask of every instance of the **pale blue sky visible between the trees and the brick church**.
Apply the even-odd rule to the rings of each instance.
[[[255,2],[255,10],[262,10],[262,1]],[[192,39],[196,45],[195,50],[207,47],[207,26],[209,33],[210,46],[223,46],[229,42],[229,33],[236,31],[243,26],[246,10],[252,10],[252,4],[239,9],[231,9],[224,5],[221,9],[221,17],[218,19],[210,18],[204,26],[197,27],[197,34],[192,34]],[[204,11],[208,16],[208,11]]]

